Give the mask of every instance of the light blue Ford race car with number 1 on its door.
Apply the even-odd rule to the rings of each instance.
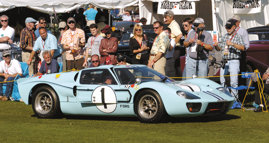
[[[18,79],[20,96],[39,118],[61,115],[137,116],[225,114],[234,102],[221,85],[201,78],[175,81],[144,65],[103,65],[79,72]]]

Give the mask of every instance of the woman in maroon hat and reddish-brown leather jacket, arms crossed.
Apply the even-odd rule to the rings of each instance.
[[[105,34],[106,38],[101,40],[99,47],[101,55],[100,62],[105,65],[118,64],[116,60],[118,54],[118,38],[111,37],[112,28],[109,25],[105,26],[101,32]]]

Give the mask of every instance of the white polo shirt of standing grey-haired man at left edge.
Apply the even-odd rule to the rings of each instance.
[[[3,30],[3,27],[0,28],[0,38],[8,36],[12,41],[14,38],[15,30],[11,27],[6,27],[5,30]],[[8,45],[8,41],[0,43],[0,50],[5,50],[13,47],[13,43],[10,43]]]

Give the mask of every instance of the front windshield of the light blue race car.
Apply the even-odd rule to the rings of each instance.
[[[128,65],[126,65],[128,66]],[[148,67],[130,67],[130,68],[114,68],[116,75],[119,78],[121,85],[134,84],[133,80],[136,78],[141,79],[141,83],[149,81],[160,82],[174,82],[175,80],[168,78],[167,76],[155,71],[154,69]]]

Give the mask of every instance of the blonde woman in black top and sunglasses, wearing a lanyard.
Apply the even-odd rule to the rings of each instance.
[[[130,53],[133,54],[133,64],[148,65],[151,44],[146,35],[143,35],[142,27],[134,25],[133,37],[130,38]]]

